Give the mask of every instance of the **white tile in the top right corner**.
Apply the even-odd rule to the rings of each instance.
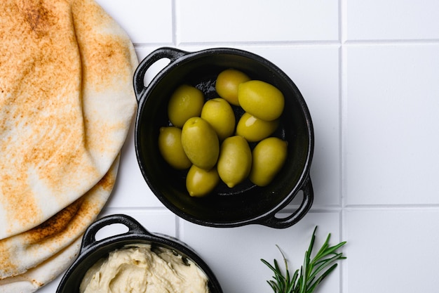
[[[349,0],[348,40],[438,39],[436,0]]]

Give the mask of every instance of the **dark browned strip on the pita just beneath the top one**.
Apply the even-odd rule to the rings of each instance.
[[[57,235],[61,233],[69,225],[69,223],[74,219],[74,216],[79,211],[83,198],[79,198],[72,204],[70,204],[65,209],[62,209],[58,214],[52,216],[47,221],[41,223],[41,225],[36,226],[27,233],[27,238],[29,243],[41,242],[41,240],[52,235]]]

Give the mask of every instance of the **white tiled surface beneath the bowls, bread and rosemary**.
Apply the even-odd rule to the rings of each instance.
[[[437,291],[438,1],[97,2],[128,32],[139,60],[175,45],[238,47],[271,60],[302,92],[316,135],[313,209],[290,228],[208,228],[177,218],[140,173],[133,126],[101,216],[128,214],[151,233],[179,237],[224,293],[271,292],[260,259],[282,264],[279,245],[298,268],[316,225],[316,247],[327,233],[332,244],[348,241],[348,259],[316,293]],[[151,67],[145,86],[165,63]],[[60,278],[38,293],[55,292]]]

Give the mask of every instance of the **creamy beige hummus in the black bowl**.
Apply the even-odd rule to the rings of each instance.
[[[208,293],[208,278],[173,250],[127,245],[88,269],[81,293]]]

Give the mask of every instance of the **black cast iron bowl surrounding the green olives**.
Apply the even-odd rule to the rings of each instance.
[[[149,67],[169,59],[145,86]],[[234,188],[220,183],[206,197],[190,197],[185,186],[186,171],[176,171],[161,157],[158,131],[168,126],[167,105],[181,84],[201,89],[207,99],[217,98],[215,80],[222,70],[234,68],[276,86],[285,96],[281,125],[273,136],[288,141],[288,157],[283,169],[265,187],[245,181]],[[248,51],[235,48],[210,48],[193,53],[176,48],[158,48],[142,60],[134,75],[138,100],[135,122],[135,150],[140,171],[158,200],[182,219],[211,227],[235,227],[262,224],[286,228],[297,223],[309,211],[313,189],[309,169],[313,156],[313,126],[302,94],[292,80],[276,65]],[[242,110],[234,108],[236,116]],[[238,120],[237,120],[238,121]],[[250,145],[252,147],[252,145]],[[299,190],[303,200],[298,209],[285,218],[276,214],[292,201]]]

